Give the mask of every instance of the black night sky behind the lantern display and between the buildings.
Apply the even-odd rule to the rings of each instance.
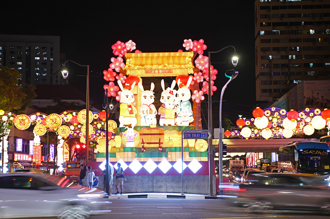
[[[103,70],[109,68],[111,46],[133,40],[142,52],[177,52],[183,40],[204,39],[207,51],[234,46],[240,57],[239,76],[225,90],[222,113],[232,121],[251,118],[255,101],[254,1],[3,1],[2,34],[57,35],[67,60],[90,65],[90,97],[103,102]],[[60,4],[61,3],[61,4]],[[218,70],[215,85],[220,95],[232,69],[234,49],[211,55]],[[86,91],[86,67],[70,63],[69,84]],[[155,83],[157,86],[157,83]],[[159,82],[160,86],[160,82]],[[207,100],[207,95],[205,95]],[[219,102],[213,104],[218,109]],[[205,113],[205,112],[204,112]],[[215,112],[218,114],[218,111]],[[207,116],[205,114],[205,116]]]

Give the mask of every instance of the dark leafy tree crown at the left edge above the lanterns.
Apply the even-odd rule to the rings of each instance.
[[[36,87],[22,83],[22,75],[17,70],[6,66],[0,68],[0,109],[20,114],[37,97]]]

